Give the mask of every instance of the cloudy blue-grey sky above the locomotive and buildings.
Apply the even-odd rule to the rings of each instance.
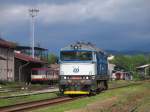
[[[28,10],[38,8],[35,45],[58,53],[76,42],[150,51],[150,0],[0,0],[0,36],[31,45]]]

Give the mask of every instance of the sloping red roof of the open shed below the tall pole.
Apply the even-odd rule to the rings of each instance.
[[[34,63],[47,63],[47,62],[42,61],[40,59],[32,58],[31,56],[21,54],[21,53],[15,53],[15,58],[20,59],[20,60],[24,60],[24,61],[28,61],[28,62],[34,62]]]

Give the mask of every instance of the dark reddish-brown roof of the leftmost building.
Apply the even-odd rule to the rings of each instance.
[[[15,48],[16,44],[10,41],[6,41],[2,38],[0,38],[0,46],[1,47],[6,47],[6,48]]]

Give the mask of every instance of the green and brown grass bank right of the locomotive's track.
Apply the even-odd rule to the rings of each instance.
[[[110,84],[112,83],[115,82]],[[125,84],[128,82],[118,81],[116,83]],[[140,85],[105,91],[93,97],[50,106],[33,112],[149,112],[149,99],[150,82],[143,82]]]

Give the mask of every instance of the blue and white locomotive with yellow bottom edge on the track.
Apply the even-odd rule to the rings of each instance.
[[[96,94],[108,88],[108,61],[104,51],[91,43],[76,42],[60,51],[60,92]]]

